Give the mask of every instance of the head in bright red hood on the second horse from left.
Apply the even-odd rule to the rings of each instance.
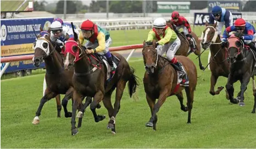
[[[85,51],[81,49],[79,43],[74,38],[69,38],[65,44],[64,54],[64,68],[65,70],[73,67],[75,62],[79,61],[82,56],[86,55]]]

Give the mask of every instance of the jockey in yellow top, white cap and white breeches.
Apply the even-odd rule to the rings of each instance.
[[[148,33],[147,41],[153,41],[154,39],[157,40],[158,54],[163,55],[166,52],[167,59],[180,69],[179,71],[182,73],[180,78],[183,79],[186,75],[185,70],[181,66],[182,64],[174,57],[181,41],[177,34],[170,27],[166,26],[166,21],[162,17],[154,20],[153,29]]]

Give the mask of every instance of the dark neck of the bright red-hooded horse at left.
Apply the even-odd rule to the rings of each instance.
[[[75,62],[75,72],[76,73],[87,73],[90,71],[91,66],[87,59],[87,56],[84,56],[79,61]]]

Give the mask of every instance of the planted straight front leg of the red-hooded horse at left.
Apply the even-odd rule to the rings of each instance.
[[[84,98],[81,94],[74,90],[73,99],[74,104],[72,105],[72,117],[71,117],[71,135],[75,135],[78,133],[78,129],[76,128],[76,110],[77,107],[82,108],[82,98]]]

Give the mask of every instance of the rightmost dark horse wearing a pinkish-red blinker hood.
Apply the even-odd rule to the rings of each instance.
[[[229,99],[231,103],[244,106],[244,92],[247,90],[247,85],[252,77],[256,75],[255,61],[256,53],[251,50],[248,46],[244,45],[243,41],[240,40],[241,33],[232,34],[225,46],[229,51],[229,58],[231,62],[230,74],[227,79],[226,89],[229,93]],[[233,84],[237,81],[241,82],[241,91],[239,98],[233,98]],[[253,96],[254,96],[254,106],[252,113],[255,113],[256,108],[256,88],[253,81]]]

